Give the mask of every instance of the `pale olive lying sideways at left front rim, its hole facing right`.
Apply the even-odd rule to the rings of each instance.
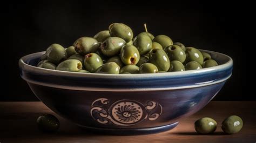
[[[76,72],[78,70],[82,70],[82,68],[83,65],[80,60],[67,59],[64,60],[62,63],[59,63],[59,65],[56,67],[56,70]]]

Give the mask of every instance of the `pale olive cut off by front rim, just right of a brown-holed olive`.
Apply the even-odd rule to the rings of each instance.
[[[110,62],[100,66],[95,73],[119,74],[120,67],[115,62]]]

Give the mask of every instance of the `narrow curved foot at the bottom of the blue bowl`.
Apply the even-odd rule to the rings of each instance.
[[[140,134],[153,134],[171,130],[176,127],[179,122],[174,122],[173,124],[158,126],[158,127],[149,127],[149,128],[96,128],[96,127],[87,127],[81,126],[85,130],[89,130],[95,133],[100,134],[110,134],[110,135],[140,135]]]

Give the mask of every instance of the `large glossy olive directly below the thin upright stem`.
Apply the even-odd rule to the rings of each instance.
[[[152,49],[152,40],[148,35],[140,33],[134,38],[133,45],[138,48],[140,55],[145,55]]]

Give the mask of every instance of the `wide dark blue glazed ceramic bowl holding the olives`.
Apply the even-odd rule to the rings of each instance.
[[[232,59],[211,54],[220,64],[200,70],[153,74],[96,74],[36,67],[44,52],[19,60],[21,77],[35,95],[75,124],[113,134],[170,130],[180,118],[203,108],[232,74]]]

